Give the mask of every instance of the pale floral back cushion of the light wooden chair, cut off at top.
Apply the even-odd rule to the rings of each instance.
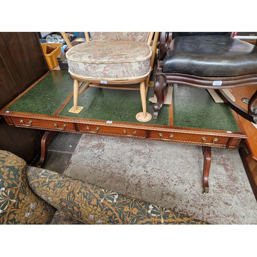
[[[90,32],[91,40],[131,40],[146,43],[149,32]]]

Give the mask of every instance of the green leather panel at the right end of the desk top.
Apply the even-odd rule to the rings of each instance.
[[[174,85],[173,125],[240,131],[227,104],[215,103],[206,89],[183,85]]]

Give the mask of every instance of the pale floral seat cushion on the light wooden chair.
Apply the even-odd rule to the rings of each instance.
[[[66,52],[69,72],[82,79],[131,80],[147,76],[152,50],[144,42],[89,41]]]

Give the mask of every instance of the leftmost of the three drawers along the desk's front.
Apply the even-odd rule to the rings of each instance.
[[[48,128],[49,130],[76,131],[74,123],[17,117],[12,117],[12,120],[15,123],[15,125],[24,127],[42,127]]]

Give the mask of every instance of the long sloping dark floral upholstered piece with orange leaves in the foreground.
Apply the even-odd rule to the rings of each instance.
[[[84,224],[207,224],[53,171],[27,167],[35,194]]]

